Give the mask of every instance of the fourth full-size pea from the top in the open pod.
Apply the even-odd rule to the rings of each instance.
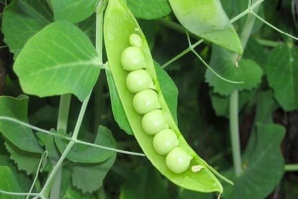
[[[160,109],[152,110],[142,118],[142,127],[148,135],[155,135],[158,131],[168,127]]]

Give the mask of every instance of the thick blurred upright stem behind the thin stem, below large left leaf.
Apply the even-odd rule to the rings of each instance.
[[[63,130],[67,131],[67,123],[70,112],[71,105],[71,94],[65,94],[60,97],[58,121],[57,121],[57,131]],[[60,188],[61,188],[61,176],[62,176],[62,165],[58,168],[57,173],[53,179],[53,186],[51,188],[50,199],[60,198]]]

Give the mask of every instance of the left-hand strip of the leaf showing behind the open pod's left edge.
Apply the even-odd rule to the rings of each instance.
[[[111,71],[109,69],[106,69],[105,72],[109,86],[113,116],[122,130],[124,130],[129,135],[133,135],[133,131],[128,123],[122,103],[118,96]]]

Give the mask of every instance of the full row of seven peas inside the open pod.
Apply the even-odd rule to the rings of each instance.
[[[146,71],[146,60],[142,53],[142,38],[138,34],[129,37],[131,46],[121,55],[124,70],[129,71],[126,86],[135,94],[133,106],[137,113],[144,115],[142,127],[148,135],[154,136],[152,145],[156,153],[166,155],[165,164],[173,173],[185,172],[192,157],[179,147],[176,133],[169,128],[159,105],[158,95],[154,90],[154,83]]]

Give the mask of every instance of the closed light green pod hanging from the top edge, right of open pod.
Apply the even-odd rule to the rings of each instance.
[[[169,0],[178,21],[193,34],[242,55],[240,39],[220,0]]]

